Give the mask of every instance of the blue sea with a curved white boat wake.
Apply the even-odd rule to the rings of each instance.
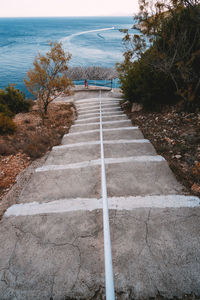
[[[0,88],[25,90],[26,72],[49,41],[63,43],[71,66],[113,67],[124,51],[119,29],[132,25],[132,17],[0,18]]]

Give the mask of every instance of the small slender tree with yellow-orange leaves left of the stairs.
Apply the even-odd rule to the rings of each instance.
[[[65,54],[61,43],[50,42],[49,45],[50,51],[36,57],[33,70],[27,72],[28,80],[24,79],[27,89],[37,98],[43,118],[49,103],[62,93],[69,95],[73,86],[65,75],[71,54]]]

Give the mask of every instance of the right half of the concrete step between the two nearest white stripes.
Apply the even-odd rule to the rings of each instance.
[[[167,162],[127,162],[106,166],[109,197],[181,194]]]

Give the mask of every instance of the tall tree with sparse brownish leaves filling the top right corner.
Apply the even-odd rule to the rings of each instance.
[[[157,105],[155,87],[162,92],[163,82],[167,83],[168,101],[161,94],[160,103],[174,101],[186,103],[188,107],[200,103],[200,6],[195,0],[140,0],[140,34],[131,36],[124,31],[124,62],[117,69],[124,91],[136,85],[141,70],[152,76],[152,84],[146,85],[148,75],[143,72],[144,97]],[[149,47],[150,45],[150,47]],[[147,48],[150,48],[150,51]],[[149,57],[144,59],[144,53]],[[137,60],[137,63],[136,63]],[[140,67],[138,67],[138,64]],[[137,66],[137,67],[136,67]],[[129,69],[137,69],[130,72]],[[128,73],[133,74],[130,80]],[[154,80],[153,80],[154,78]],[[159,79],[160,78],[160,79]],[[157,79],[157,80],[156,80]],[[129,81],[129,83],[128,83]],[[138,86],[137,86],[138,88]],[[144,90],[145,89],[145,90]],[[174,101],[171,101],[173,97]],[[155,99],[155,100],[154,100]],[[139,97],[139,101],[142,97]],[[153,106],[153,103],[152,103]]]

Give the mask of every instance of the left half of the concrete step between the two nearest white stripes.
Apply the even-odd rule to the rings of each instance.
[[[99,198],[101,193],[99,166],[36,172],[23,189],[19,203],[49,202],[66,198]]]

